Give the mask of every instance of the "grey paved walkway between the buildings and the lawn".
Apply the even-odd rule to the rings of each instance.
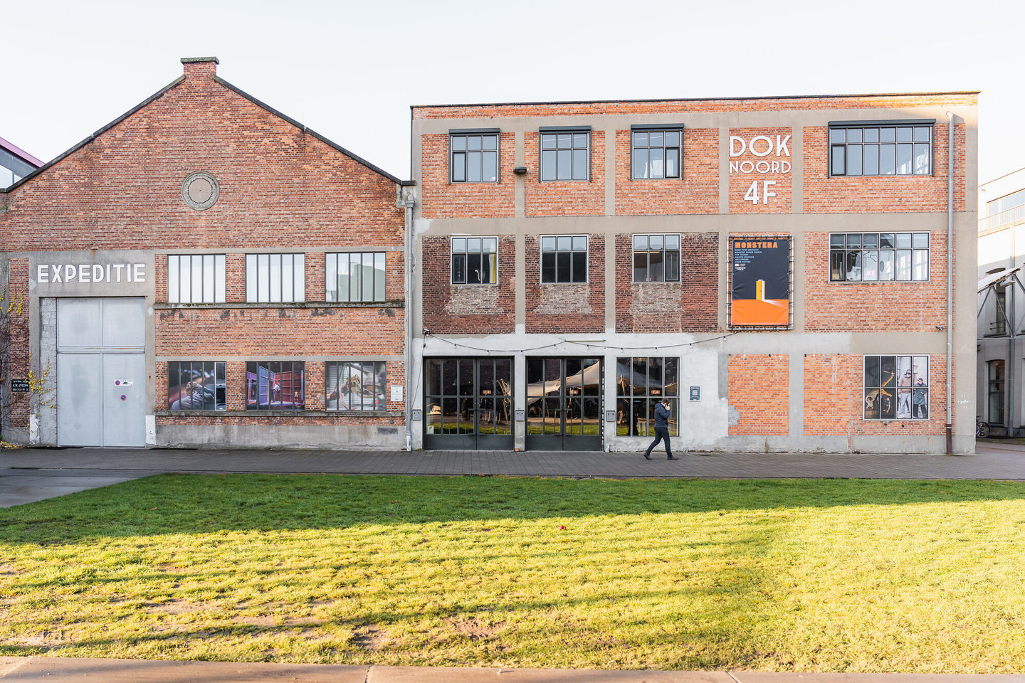
[[[680,454],[578,451],[274,451],[18,449],[0,452],[0,507],[162,472],[330,473],[576,478],[868,478],[1025,480],[1025,446],[980,441],[971,456]]]

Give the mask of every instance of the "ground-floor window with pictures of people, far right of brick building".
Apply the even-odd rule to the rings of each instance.
[[[929,356],[866,355],[866,420],[929,419]]]

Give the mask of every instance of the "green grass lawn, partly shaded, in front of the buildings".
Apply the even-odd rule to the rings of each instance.
[[[1025,485],[162,475],[0,510],[0,655],[1025,672]]]

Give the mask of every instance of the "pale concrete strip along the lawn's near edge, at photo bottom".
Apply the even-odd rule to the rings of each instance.
[[[334,665],[244,664],[94,659],[74,657],[0,657],[4,683],[81,681],[101,683],[1000,683],[1025,681],[1025,675],[945,674],[798,674],[675,671],[568,671],[556,669],[456,669],[447,667],[345,667]]]

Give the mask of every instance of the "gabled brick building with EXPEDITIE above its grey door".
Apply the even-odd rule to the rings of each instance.
[[[181,61],[0,193],[4,438],[404,447],[408,183]]]

